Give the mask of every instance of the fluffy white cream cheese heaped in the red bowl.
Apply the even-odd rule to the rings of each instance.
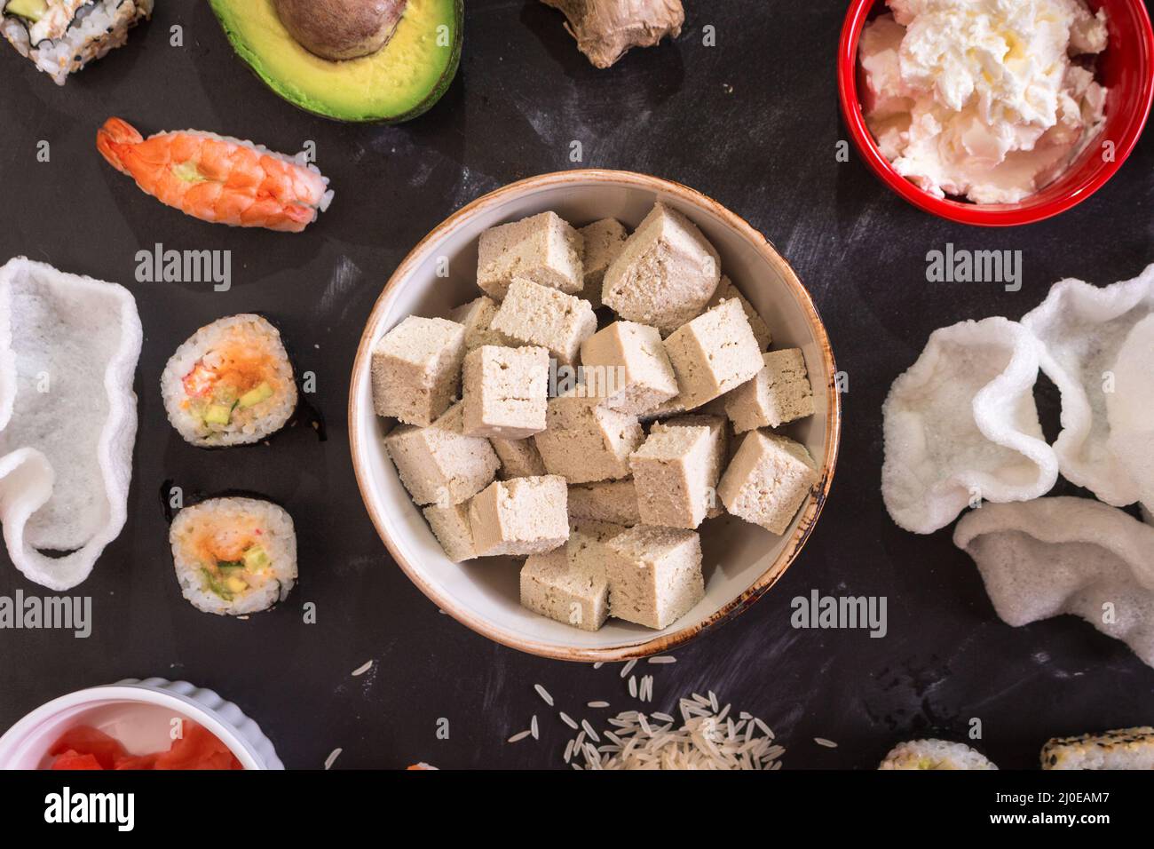
[[[899,174],[937,198],[1013,203],[1057,179],[1101,129],[1101,53],[1082,0],[887,0],[862,32],[863,111]]]

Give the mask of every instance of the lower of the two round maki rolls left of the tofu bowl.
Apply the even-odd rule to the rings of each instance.
[[[168,542],[180,591],[205,613],[268,610],[297,582],[297,531],[271,501],[211,498],[185,507]]]

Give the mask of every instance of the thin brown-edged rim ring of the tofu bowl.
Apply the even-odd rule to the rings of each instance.
[[[743,593],[741,593],[733,601],[726,603],[707,619],[695,625],[680,628],[670,634],[654,636],[643,642],[629,642],[602,648],[565,647],[548,642],[538,642],[535,640],[526,640],[457,606],[449,597],[442,597],[442,595],[433,586],[425,581],[420,571],[402,556],[398,546],[394,544],[389,534],[385,533],[384,522],[381,516],[384,507],[376,505],[374,499],[369,497],[367,474],[362,474],[361,470],[361,434],[355,425],[359,419],[361,407],[359,399],[360,393],[357,392],[357,387],[368,377],[368,368],[372,360],[372,345],[376,338],[377,328],[388,311],[387,307],[392,299],[394,292],[399,289],[400,282],[406,280],[413,269],[419,265],[419,259],[422,256],[427,247],[436,241],[440,241],[442,237],[451,232],[460,225],[463,221],[470,218],[477,211],[499,206],[509,198],[522,194],[527,189],[563,186],[567,183],[590,181],[606,183],[617,186],[623,185],[672,195],[679,200],[690,203],[691,206],[712,211],[732,230],[744,237],[744,239],[751,244],[779,273],[786,285],[792,291],[795,300],[801,305],[809,322],[810,332],[814,334],[815,342],[822,351],[822,359],[824,362],[826,373],[829,374],[829,381],[825,387],[829,408],[829,424],[825,431],[825,462],[820,468],[820,479],[809,500],[809,504],[802,511],[801,519],[797,522],[797,527],[793,533],[792,539],[778,558],[770,564],[765,572],[763,572],[762,575],[759,575],[757,580],[754,581],[754,583],[750,584]],[[357,476],[357,486],[360,490],[361,501],[364,501],[365,508],[368,511],[369,519],[373,522],[373,527],[376,528],[377,535],[381,537],[381,541],[384,543],[389,553],[392,554],[392,559],[398,566],[400,566],[417,588],[429,598],[429,601],[462,625],[477,632],[478,634],[481,634],[482,636],[487,636],[494,642],[501,643],[502,646],[508,646],[509,648],[515,648],[541,657],[552,657],[556,660],[583,663],[597,661],[616,662],[635,657],[646,657],[676,648],[677,646],[681,646],[682,643],[685,643],[703,633],[707,628],[741,615],[757,599],[765,595],[770,587],[772,587],[778,579],[785,574],[786,569],[789,568],[793,561],[797,558],[797,554],[809,539],[809,536],[814,530],[814,526],[817,523],[822,508],[825,506],[825,499],[827,498],[830,486],[833,483],[833,472],[837,467],[838,448],[841,438],[841,396],[837,387],[837,374],[838,368],[833,359],[833,350],[830,345],[829,334],[826,333],[825,325],[822,322],[822,318],[817,312],[817,307],[814,305],[809,290],[805,289],[790,265],[784,256],[781,256],[781,254],[778,253],[773,244],[744,218],[718,203],[712,198],[709,198],[707,195],[704,195],[700,192],[680,183],[634,171],[575,169],[571,171],[556,171],[539,174],[537,177],[530,177],[523,180],[517,180],[516,183],[510,183],[501,188],[489,192],[488,194],[481,195],[458,209],[435,226],[424,239],[421,239],[417,246],[409,252],[405,259],[400,261],[400,265],[397,266],[397,269],[389,277],[389,282],[385,283],[384,289],[374,303],[373,310],[370,311],[365,323],[365,330],[361,334],[360,343],[357,347],[357,358],[353,362],[352,380],[349,386],[349,446],[352,454],[353,472]]]

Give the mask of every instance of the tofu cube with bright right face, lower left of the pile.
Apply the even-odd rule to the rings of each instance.
[[[544,554],[569,538],[568,486],[556,475],[495,481],[469,505],[479,557]]]

